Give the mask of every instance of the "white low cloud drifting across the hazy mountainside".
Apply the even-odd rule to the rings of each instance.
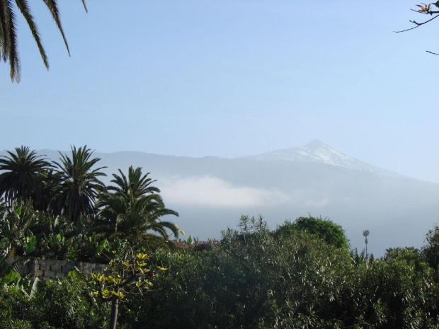
[[[255,187],[237,187],[211,176],[161,178],[161,195],[166,204],[198,207],[263,207],[289,202],[282,192]]]

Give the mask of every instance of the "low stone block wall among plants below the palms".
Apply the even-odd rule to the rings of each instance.
[[[33,277],[40,279],[50,279],[58,277],[62,279],[68,276],[68,273],[78,267],[78,269],[89,277],[92,272],[104,272],[106,264],[96,264],[91,262],[69,262],[68,260],[43,260],[32,258],[19,267],[18,273],[25,275],[30,273]]]

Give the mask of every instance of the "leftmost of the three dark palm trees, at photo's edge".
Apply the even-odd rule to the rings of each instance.
[[[42,199],[44,171],[52,168],[43,156],[30,151],[27,146],[16,147],[16,153],[6,151],[9,156],[0,156],[0,196],[6,202],[16,199],[33,200],[38,203]]]

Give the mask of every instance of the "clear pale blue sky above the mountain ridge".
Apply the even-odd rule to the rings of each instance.
[[[21,83],[0,64],[0,149],[233,158],[320,139],[439,183],[438,24],[416,2],[59,1],[72,56],[32,1]]]

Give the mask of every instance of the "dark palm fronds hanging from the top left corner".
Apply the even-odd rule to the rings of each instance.
[[[67,44],[64,30],[62,29],[61,20],[59,18],[59,10],[57,0],[42,0],[52,14],[52,18],[57,25],[59,32],[62,35],[64,44],[66,45],[67,52],[70,56],[69,45]],[[13,3],[15,2],[15,6]],[[85,0],[82,0],[85,10],[87,11]],[[40,33],[38,32],[37,25],[30,12],[30,6],[28,0],[0,0],[0,60],[6,63],[9,62],[11,68],[11,80],[14,82],[20,82],[20,57],[18,55],[17,44],[17,31],[16,31],[16,8],[21,11],[21,14],[28,23],[30,32],[33,35],[35,42],[37,43],[38,50],[40,50],[40,56],[45,67],[49,69],[49,62],[45,53],[44,47],[42,47]]]

